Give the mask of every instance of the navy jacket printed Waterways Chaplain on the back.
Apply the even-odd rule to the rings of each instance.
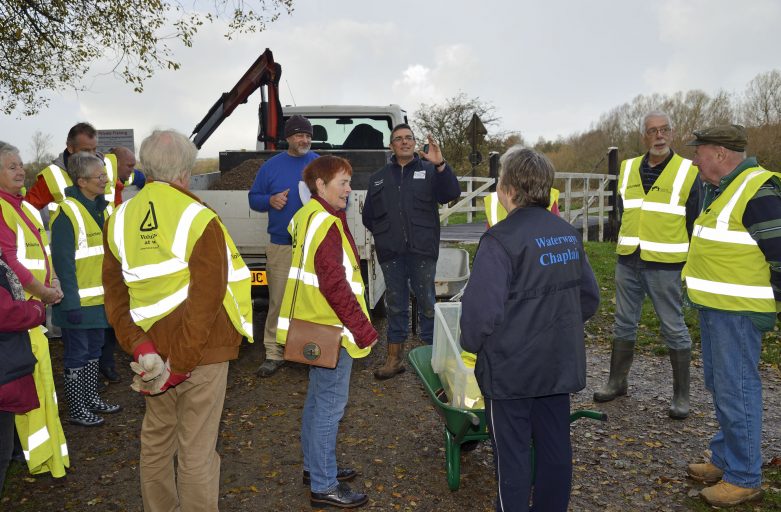
[[[579,233],[545,208],[513,210],[483,235],[462,299],[461,346],[477,353],[483,395],[583,389],[583,322],[598,305]]]

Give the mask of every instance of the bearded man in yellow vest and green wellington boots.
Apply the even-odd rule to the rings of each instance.
[[[650,297],[672,366],[673,399],[667,414],[689,415],[691,336],[683,319],[681,269],[686,261],[694,219],[700,212],[701,182],[692,161],[670,147],[670,116],[653,111],[640,123],[648,149],[621,163],[621,231],[616,265],[616,313],[608,381],[594,393],[597,402],[627,394],[637,324],[645,296]]]

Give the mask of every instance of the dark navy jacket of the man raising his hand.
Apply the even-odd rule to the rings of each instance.
[[[369,179],[363,224],[380,263],[410,253],[439,256],[439,208],[461,195],[450,166],[437,172],[417,155],[403,168],[395,157]]]

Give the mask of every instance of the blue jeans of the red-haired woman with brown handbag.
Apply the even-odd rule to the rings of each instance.
[[[301,416],[301,451],[304,471],[311,476],[312,492],[336,487],[336,434],[350,391],[353,358],[342,347],[336,368],[309,369],[309,389]]]

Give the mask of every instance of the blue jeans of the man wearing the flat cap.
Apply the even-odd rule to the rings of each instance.
[[[711,462],[740,487],[762,482],[762,333],[747,316],[700,310],[705,388],[713,395],[719,431]]]

